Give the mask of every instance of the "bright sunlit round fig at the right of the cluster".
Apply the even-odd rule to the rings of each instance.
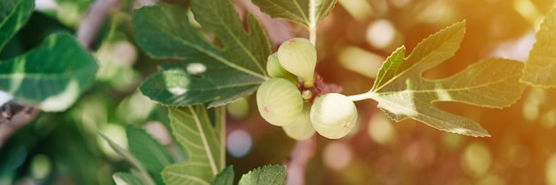
[[[311,107],[311,122],[314,129],[329,139],[346,136],[357,120],[357,108],[349,97],[329,93],[314,99]]]

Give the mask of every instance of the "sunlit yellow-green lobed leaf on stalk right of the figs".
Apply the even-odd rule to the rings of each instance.
[[[523,64],[502,58],[487,58],[464,71],[441,80],[427,80],[425,70],[452,57],[465,34],[465,21],[442,29],[417,44],[406,58],[405,47],[395,50],[377,74],[372,89],[364,94],[378,102],[391,119],[417,119],[426,125],[452,133],[489,136],[472,119],[433,106],[436,101],[452,101],[503,108],[520,98]]]

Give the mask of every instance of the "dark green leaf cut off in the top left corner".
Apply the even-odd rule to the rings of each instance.
[[[25,25],[35,9],[35,0],[0,1],[0,50]]]

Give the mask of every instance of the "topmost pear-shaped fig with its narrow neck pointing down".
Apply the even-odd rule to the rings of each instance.
[[[313,87],[316,50],[306,38],[292,38],[278,48],[278,60],[286,71],[297,75],[306,88]]]

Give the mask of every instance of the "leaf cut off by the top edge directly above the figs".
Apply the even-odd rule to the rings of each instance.
[[[334,8],[336,0],[251,0],[272,18],[289,19],[306,27],[316,27]]]

